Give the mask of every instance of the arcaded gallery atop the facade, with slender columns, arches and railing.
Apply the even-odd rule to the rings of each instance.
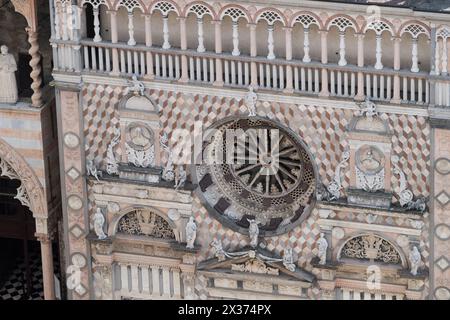
[[[248,13],[232,6],[219,14],[214,13],[211,7],[195,3],[181,14],[178,12],[179,9],[169,2],[157,2],[151,7],[143,8],[137,2],[118,1],[115,8],[108,7],[108,11],[103,12],[109,17],[108,27],[111,32],[108,41],[105,40],[100,25],[102,10],[108,4],[102,0],[84,0],[81,3],[92,5],[93,38],[78,40],[78,42],[73,38],[73,32],[68,26],[70,21],[68,17],[72,12],[72,9],[69,9],[71,6],[67,5],[67,1],[57,0],[52,39],[54,52],[57,53],[55,70],[94,72],[114,76],[136,74],[145,79],[155,78],[214,86],[247,88],[252,85],[260,90],[320,97],[332,96],[358,101],[367,96],[372,100],[392,103],[427,104],[430,102],[430,75],[420,70],[423,64],[419,59],[423,50],[423,44],[419,45],[420,36],[431,36],[425,25],[405,23],[398,30],[394,30],[393,24],[376,21],[367,23],[362,30],[359,29],[358,22],[350,16],[338,15],[325,23],[312,12],[294,15],[290,25],[287,25],[286,19],[279,12],[269,9],[260,10],[255,17],[250,18]],[[126,38],[121,38],[123,32],[120,34],[118,32],[117,10],[121,6],[126,8],[127,13],[127,24],[122,26],[127,31]],[[152,19],[154,11],[159,12],[158,19],[161,20],[158,23],[162,25],[161,35],[156,38],[157,41],[155,41],[155,35],[152,36],[152,32],[155,32],[152,23],[156,23]],[[169,23],[169,13],[175,14],[178,19],[175,20],[172,17],[170,18],[172,22]],[[195,14],[196,19],[190,20],[194,22],[187,25],[186,17],[189,14]],[[135,30],[135,24],[138,23],[136,15],[142,15],[139,19],[143,20],[145,27],[143,37]],[[212,24],[205,24],[205,15],[210,17]],[[222,23],[224,19],[228,19],[225,26]],[[241,19],[245,19],[247,24],[242,23]],[[174,22],[178,22],[180,27],[174,28]],[[263,34],[257,34],[256,26],[259,23],[265,25],[265,28],[258,29],[265,30]],[[303,38],[301,44],[303,53],[300,55],[293,52],[293,42],[297,37],[293,32],[293,26],[296,23],[302,26],[300,32]],[[280,24],[286,36],[275,39],[274,30],[280,30],[278,29]],[[315,29],[311,33],[312,26]],[[205,36],[207,28],[210,28],[209,34],[213,35],[213,43],[210,37]],[[332,28],[336,28],[337,33],[330,33]],[[195,30],[195,32],[188,32],[188,30]],[[349,36],[349,30],[352,30],[355,37]],[[142,30],[140,32],[142,33]],[[367,37],[367,32],[374,32],[375,36]],[[385,32],[392,37],[394,43],[394,54],[391,57],[393,69],[386,66],[389,63],[385,62],[388,61],[383,61],[387,60],[383,55],[382,39],[386,36]],[[174,36],[174,33],[178,33],[179,38]],[[225,51],[222,43],[223,33],[229,33],[228,41],[230,41],[230,46],[227,46]],[[328,61],[328,41],[331,34],[338,37],[338,61],[335,63]],[[408,34],[408,37],[405,38],[405,34]],[[188,48],[187,38],[192,36],[196,39],[195,47]],[[438,29],[433,37],[436,37],[436,41],[432,51],[433,58],[430,59],[432,60],[431,73],[445,80],[436,82],[433,91],[436,94],[434,100],[437,104],[450,105],[448,101],[450,31],[447,27]],[[158,40],[160,38],[161,40]],[[370,41],[374,50],[364,50]],[[409,57],[405,60],[401,52],[407,47],[405,43],[408,42],[405,41],[411,44],[411,50],[408,53],[411,58],[409,66],[405,65]],[[285,58],[279,57],[280,43],[284,46]],[[401,43],[403,43],[402,46]],[[215,48],[214,52],[207,50],[211,47]],[[320,47],[319,51],[317,47]],[[352,61],[354,57],[351,47],[356,48],[357,61]],[[260,49],[265,53],[257,52]],[[319,52],[318,57],[317,52]],[[78,65],[77,54],[81,58],[81,63]],[[375,64],[367,66],[365,60],[369,58],[366,59],[366,55],[373,55],[372,60]],[[401,65],[404,65],[403,69]],[[437,97],[438,94],[440,94],[439,97]]]

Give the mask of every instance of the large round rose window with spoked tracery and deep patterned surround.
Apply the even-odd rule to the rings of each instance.
[[[220,221],[245,232],[256,218],[264,234],[280,234],[309,212],[316,179],[296,134],[259,117],[229,118],[211,129],[194,179]]]

